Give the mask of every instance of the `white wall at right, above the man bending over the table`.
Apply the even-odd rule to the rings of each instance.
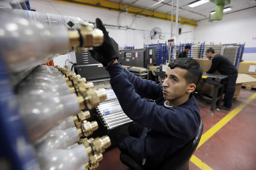
[[[256,7],[223,15],[221,21],[198,21],[195,41],[214,44],[245,43],[245,48],[256,47]],[[243,60],[256,60],[256,53],[244,53]]]

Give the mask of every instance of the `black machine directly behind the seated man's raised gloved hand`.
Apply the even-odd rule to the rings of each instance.
[[[118,44],[111,38],[116,54],[118,54]],[[109,78],[105,67],[98,61],[92,58],[89,51],[76,52],[75,73],[81,77],[86,77],[86,80]]]

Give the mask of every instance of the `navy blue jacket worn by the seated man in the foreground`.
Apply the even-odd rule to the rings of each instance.
[[[144,155],[141,160],[149,157],[155,164],[160,164],[196,136],[200,110],[192,93],[185,103],[165,108],[162,84],[141,79],[120,63],[111,65],[108,71],[110,84],[124,113],[147,128],[141,140],[144,147],[138,150]],[[156,101],[148,102],[140,96]]]

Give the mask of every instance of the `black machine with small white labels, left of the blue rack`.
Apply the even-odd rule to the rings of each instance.
[[[157,64],[155,48],[119,51],[118,61],[121,62],[122,65],[144,67],[149,69],[150,66]]]

